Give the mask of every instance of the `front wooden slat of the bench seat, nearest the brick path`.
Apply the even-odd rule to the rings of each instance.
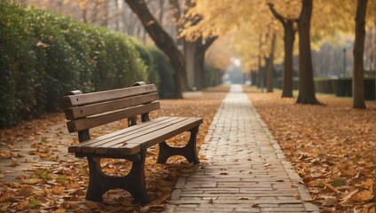
[[[117,144],[112,146],[108,150],[108,154],[136,154],[140,152],[141,145],[145,147],[154,146],[161,143],[168,138],[172,138],[180,133],[200,125],[202,123],[201,118],[188,118],[182,122],[177,122],[174,125],[168,126],[161,130],[151,131],[149,134],[145,134],[141,137],[131,139],[127,141],[125,145]]]

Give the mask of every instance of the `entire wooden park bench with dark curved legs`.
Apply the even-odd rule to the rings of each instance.
[[[159,117],[149,119],[149,112],[159,109],[158,93],[154,84],[135,83],[133,87],[82,94],[70,91],[63,98],[67,129],[78,132],[80,143],[69,146],[68,152],[76,157],[87,157],[89,186],[86,199],[102,201],[103,193],[121,188],[131,193],[142,204],[150,202],[145,187],[146,149],[159,145],[157,162],[165,163],[172,155],[182,155],[188,162],[200,163],[196,151],[196,136],[202,118]],[[178,110],[178,109],[176,109]],[[137,123],[137,116],[141,116]],[[93,127],[128,118],[128,127],[98,138],[90,138]],[[184,147],[168,146],[165,142],[184,131],[191,136]],[[125,177],[106,175],[100,167],[101,158],[126,159],[132,168]]]

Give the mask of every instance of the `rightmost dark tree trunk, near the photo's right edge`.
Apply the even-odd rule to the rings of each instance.
[[[353,108],[365,108],[364,102],[364,38],[367,0],[357,0],[355,18],[354,71],[352,81]]]

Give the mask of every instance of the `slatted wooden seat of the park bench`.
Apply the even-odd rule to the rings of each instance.
[[[137,154],[141,147],[154,146],[201,123],[202,118],[196,117],[159,117],[69,146],[68,152],[77,156],[107,154],[109,158],[119,158],[122,154]]]

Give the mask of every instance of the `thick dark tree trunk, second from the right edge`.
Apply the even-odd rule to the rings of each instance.
[[[299,95],[296,103],[316,105],[319,102],[313,84],[312,56],[310,52],[310,18],[312,0],[302,0],[302,12],[298,21],[299,29]]]

